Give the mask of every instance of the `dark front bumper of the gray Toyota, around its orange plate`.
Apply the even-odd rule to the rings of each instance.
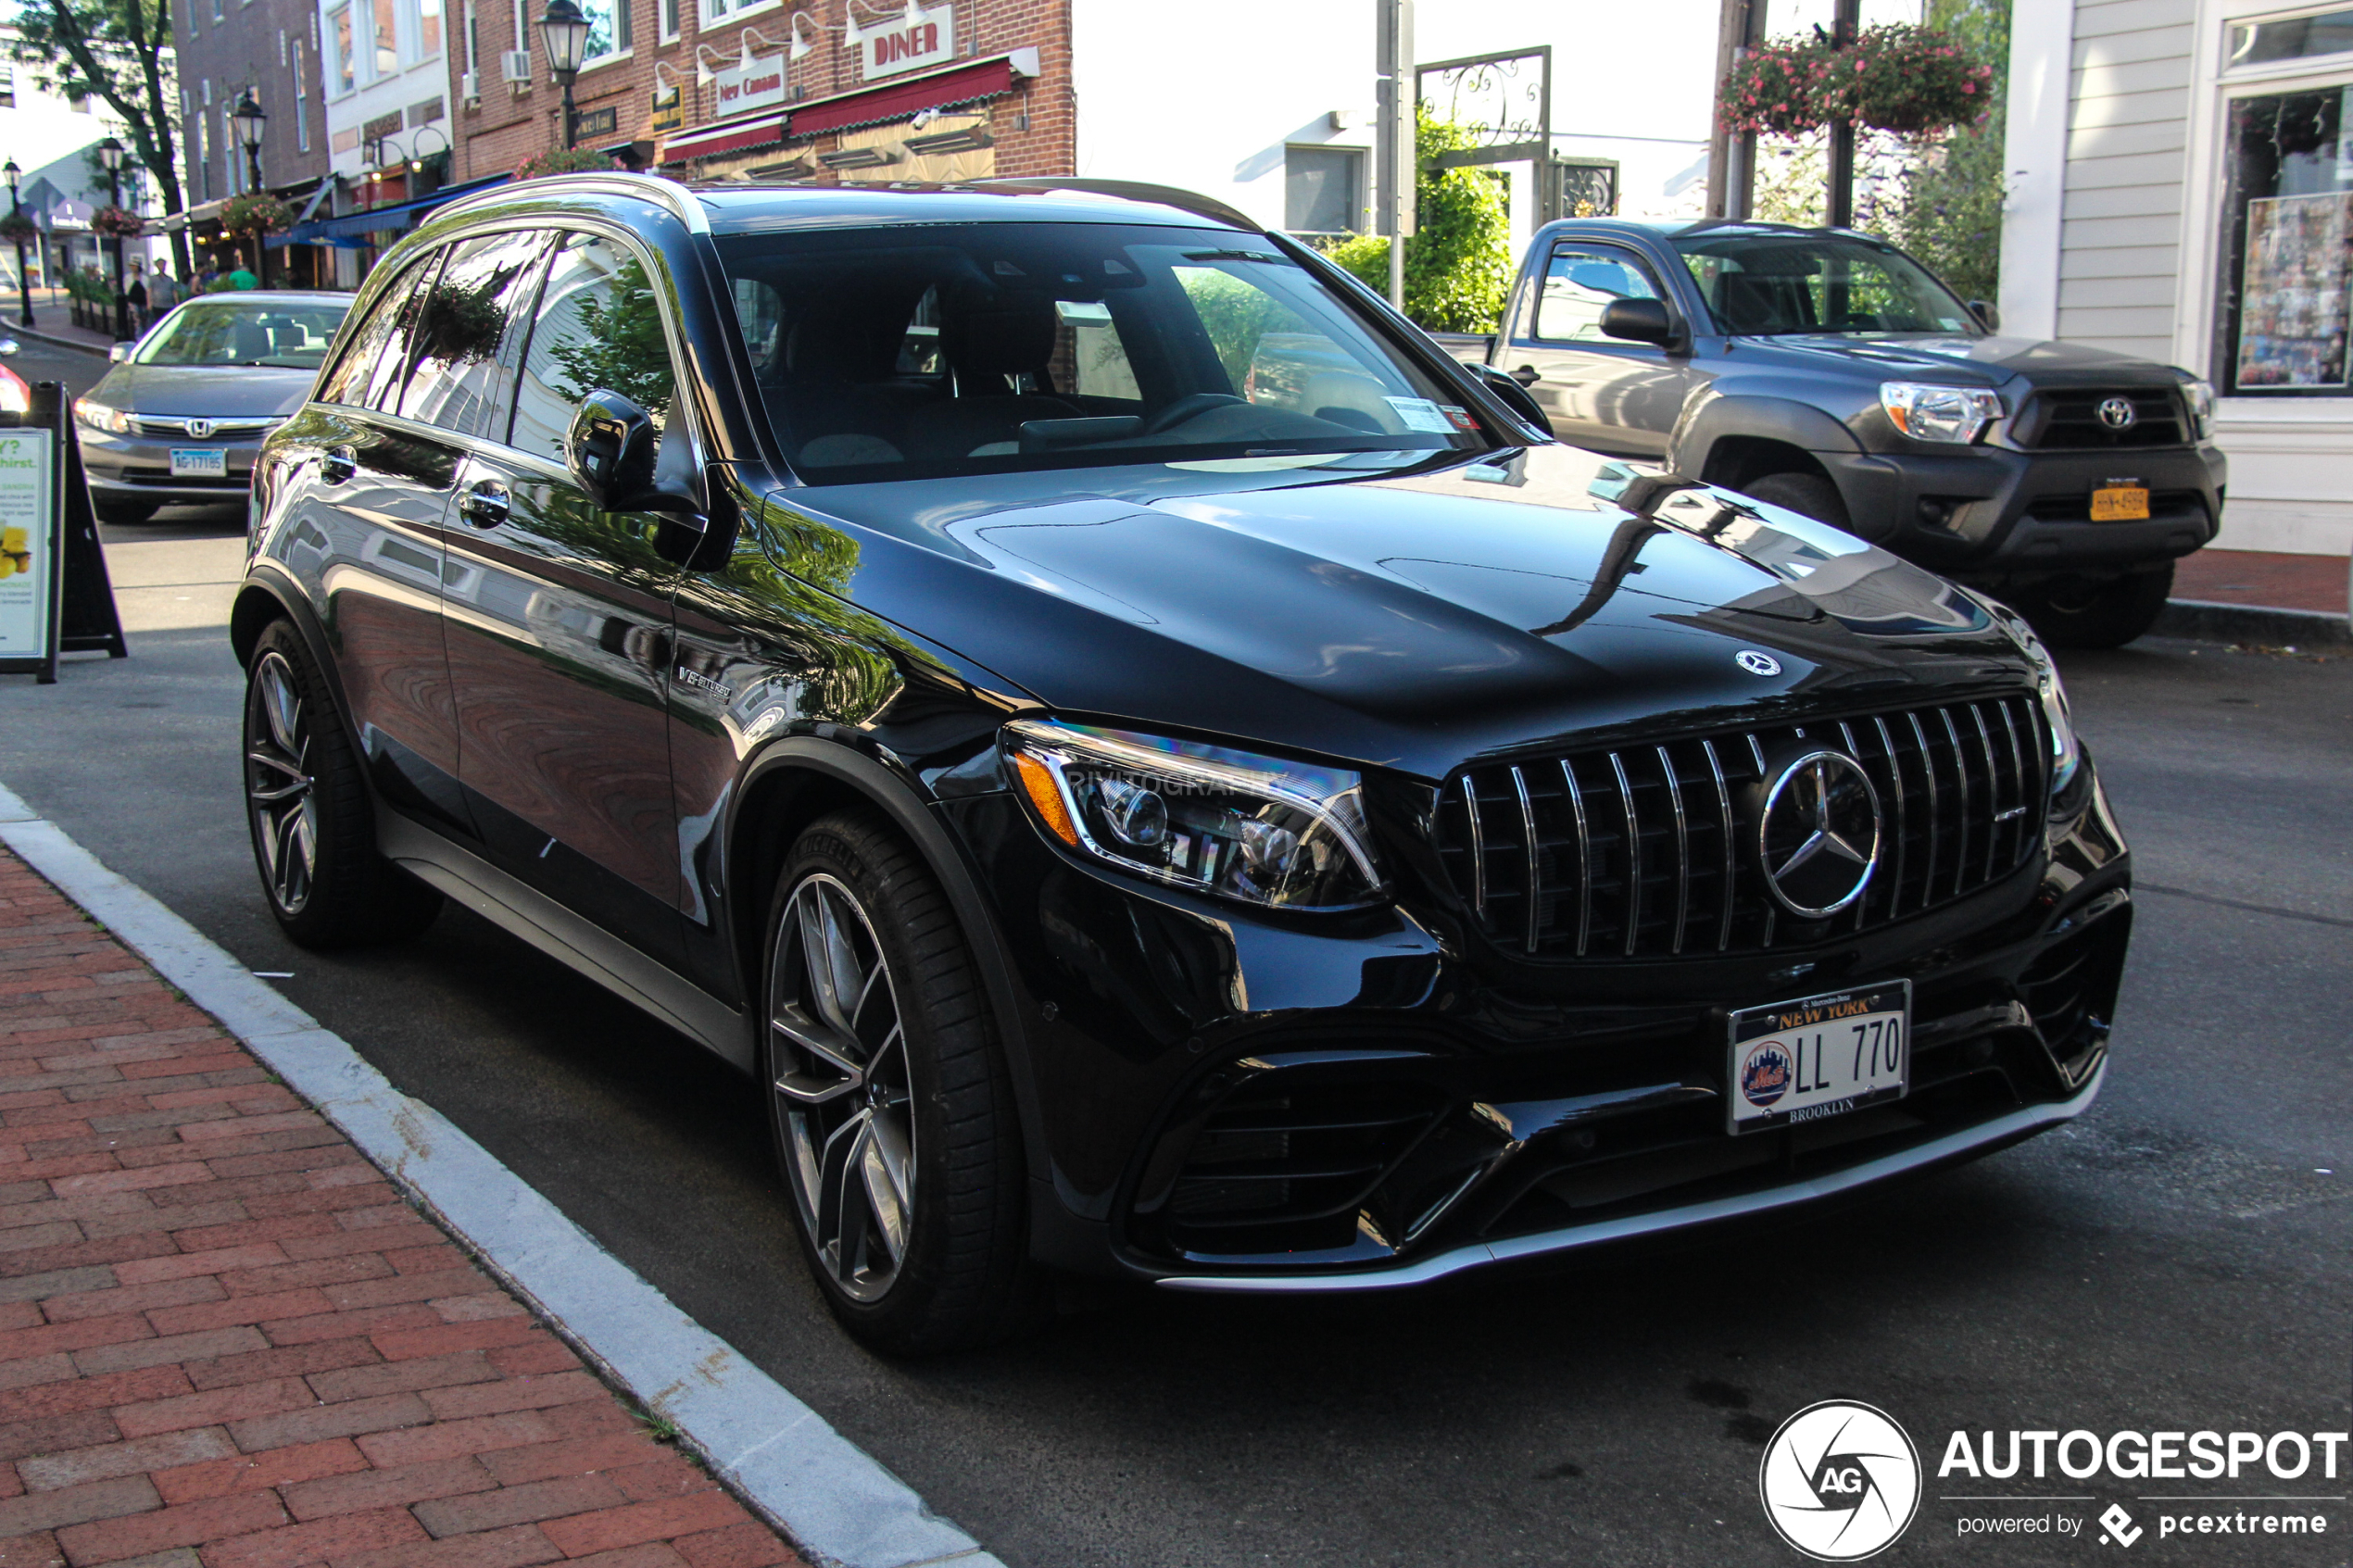
[[[2228,458],[2214,447],[2146,451],[1817,454],[1849,527],[1904,559],[1969,581],[2118,574],[2212,543]],[[2146,522],[2092,522],[2111,482],[2151,494]]]

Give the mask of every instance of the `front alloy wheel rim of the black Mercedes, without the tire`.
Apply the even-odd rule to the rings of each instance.
[[[786,903],[767,1016],[802,1225],[845,1295],[880,1300],[915,1218],[915,1095],[889,964],[835,877],[802,877]]]

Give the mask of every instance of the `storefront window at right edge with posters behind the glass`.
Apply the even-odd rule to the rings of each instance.
[[[2353,87],[2231,103],[2224,390],[2353,395]]]

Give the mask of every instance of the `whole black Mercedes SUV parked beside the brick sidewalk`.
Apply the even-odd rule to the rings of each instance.
[[[741,1067],[901,1352],[2080,1114],[2127,858],[2033,632],[1541,421],[1181,193],[459,200],[254,475],[271,907],[456,898]]]

